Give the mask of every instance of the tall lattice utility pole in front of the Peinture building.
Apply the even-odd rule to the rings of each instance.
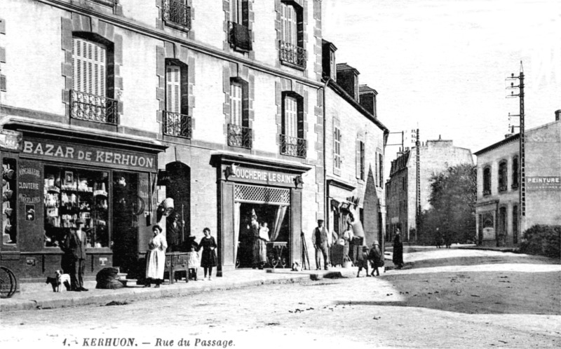
[[[519,149],[520,152],[520,164],[518,170],[518,200],[519,200],[519,207],[518,212],[519,219],[518,219],[518,234],[522,234],[525,231],[526,225],[526,159],[525,159],[525,120],[524,120],[524,69],[522,69],[522,61],[520,61],[520,75],[515,76],[514,73],[511,74],[511,77],[506,78],[507,81],[511,81],[511,85],[507,87],[508,90],[512,90],[510,95],[507,95],[507,98],[516,98],[520,102],[520,114],[518,115],[511,115],[508,114],[509,117],[511,116],[518,116],[520,117],[520,138],[519,141]],[[515,85],[515,81],[518,81],[518,85]],[[515,90],[518,89],[518,94],[515,93]],[[514,130],[515,126],[512,127]],[[517,237],[518,239],[518,237]]]

